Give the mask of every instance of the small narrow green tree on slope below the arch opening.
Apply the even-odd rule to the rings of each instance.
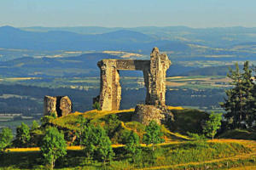
[[[131,133],[128,135],[125,143],[125,150],[129,155],[131,155],[133,162],[136,161],[136,158],[141,156],[142,150],[139,144],[139,137],[137,133],[131,131]]]

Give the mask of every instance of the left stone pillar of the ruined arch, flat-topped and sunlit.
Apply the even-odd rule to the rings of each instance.
[[[101,69],[100,107],[102,111],[118,111],[121,100],[119,71],[116,59],[102,59],[98,62]]]

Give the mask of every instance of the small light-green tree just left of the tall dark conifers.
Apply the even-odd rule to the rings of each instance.
[[[207,120],[206,125],[203,127],[203,132],[206,133],[208,137],[213,137],[217,133],[217,130],[221,126],[222,113],[212,113]]]

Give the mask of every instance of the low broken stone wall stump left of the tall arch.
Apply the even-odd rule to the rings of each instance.
[[[72,113],[72,102],[67,96],[44,96],[44,116],[55,114],[56,117]]]

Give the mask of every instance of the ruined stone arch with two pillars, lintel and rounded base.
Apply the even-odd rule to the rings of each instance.
[[[145,105],[137,105],[137,115],[135,116],[137,118],[135,119],[138,122],[143,122],[143,124],[147,124],[150,120],[160,122],[163,120],[163,115],[165,117],[166,114],[171,116],[171,113],[167,113],[166,110],[166,71],[171,64],[172,62],[167,55],[160,54],[158,48],[153,48],[150,60],[102,59],[97,63],[101,69],[101,92],[94,99],[94,102],[99,102],[102,111],[119,110],[121,100],[119,71],[143,71],[147,94]],[[146,116],[150,114],[148,112],[154,116],[156,112],[161,115],[158,114],[158,118]]]

